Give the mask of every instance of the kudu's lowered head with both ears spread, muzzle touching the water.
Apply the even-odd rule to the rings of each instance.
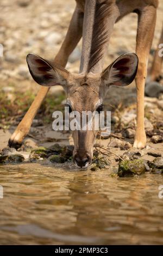
[[[27,63],[30,74],[41,86],[60,85],[67,94],[71,111],[102,111],[104,96],[110,86],[127,86],[136,75],[138,58],[135,53],[126,53],[117,58],[101,74],[71,74],[58,64],[50,63],[29,53]],[[92,161],[93,144],[97,131],[74,130],[73,161],[79,167],[87,167]]]

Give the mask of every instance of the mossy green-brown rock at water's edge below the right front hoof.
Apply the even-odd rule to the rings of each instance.
[[[143,160],[125,160],[119,163],[118,176],[140,175],[145,173],[145,170],[145,162]]]

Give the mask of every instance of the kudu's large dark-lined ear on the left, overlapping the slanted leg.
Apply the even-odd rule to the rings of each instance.
[[[58,64],[51,64],[36,54],[27,55],[29,72],[41,86],[66,86],[69,72]]]

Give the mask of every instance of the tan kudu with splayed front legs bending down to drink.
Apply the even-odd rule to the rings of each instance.
[[[127,86],[136,75],[137,125],[134,148],[146,146],[144,126],[144,88],[149,50],[152,45],[157,0],[76,0],[66,38],[54,62],[28,54],[27,63],[34,80],[43,86],[28,112],[12,134],[10,147],[19,147],[49,87],[60,84],[67,93],[67,103],[72,110],[95,111],[102,109],[104,96],[110,86]],[[103,61],[114,24],[129,13],[138,15],[136,54],[127,53],[103,71]],[[70,74],[64,68],[68,56],[83,36],[79,74]],[[139,58],[139,65],[138,58]],[[86,167],[92,159],[96,138],[93,131],[73,132],[74,162]]]

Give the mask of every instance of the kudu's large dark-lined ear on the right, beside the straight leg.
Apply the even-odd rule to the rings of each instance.
[[[121,55],[103,71],[103,83],[105,86],[128,86],[136,76],[138,63],[135,53]]]

